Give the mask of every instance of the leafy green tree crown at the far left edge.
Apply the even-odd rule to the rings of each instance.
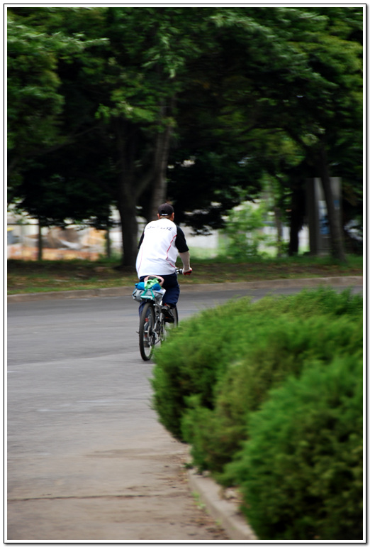
[[[34,24],[38,13],[43,12],[9,9],[8,181],[9,202],[16,200],[19,207],[37,217],[42,225],[48,225],[62,223],[72,216],[72,211],[80,220],[82,216],[88,217],[91,210],[89,205],[79,207],[82,195],[87,203],[91,201],[91,193],[82,193],[79,183],[69,185],[68,176],[58,167],[65,163],[69,173],[72,171],[75,155],[70,145],[81,136],[78,126],[69,127],[69,133],[63,131],[67,126],[61,120],[66,111],[65,94],[58,67],[62,61],[72,63],[85,48],[101,40],[82,40],[81,36],[67,36],[60,30],[50,32],[42,18],[38,25]],[[86,168],[82,154],[80,149],[80,172]],[[78,201],[74,199],[77,196]],[[100,203],[101,198],[100,195]]]

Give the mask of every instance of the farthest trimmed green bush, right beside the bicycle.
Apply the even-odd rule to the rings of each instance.
[[[252,377],[256,373],[260,374],[261,359],[249,359],[252,353],[256,354],[258,351],[262,354],[264,362],[267,362],[269,353],[269,359],[272,359],[264,379],[261,379],[262,384],[267,384],[262,387],[264,394],[272,385],[269,369],[275,370],[275,377],[279,377],[281,367],[291,372],[287,362],[294,366],[291,357],[292,347],[295,347],[294,354],[301,354],[299,343],[303,342],[299,341],[302,319],[324,314],[330,318],[345,315],[361,320],[361,303],[361,296],[353,296],[350,291],[338,294],[330,288],[320,288],[315,291],[302,291],[296,296],[263,298],[253,304],[250,299],[240,298],[212,310],[203,311],[191,320],[182,322],[179,328],[171,333],[166,344],[155,353],[156,364],[152,379],[153,406],[157,410],[159,421],[176,438],[184,440],[181,421],[184,413],[189,408],[194,408],[194,399],[189,406],[189,397],[196,395],[197,406],[213,410],[216,397],[223,391],[220,389],[220,381],[229,369],[237,370],[237,365],[247,360],[248,366],[252,367]],[[282,325],[284,319],[291,323],[290,330],[293,329],[293,334],[289,337],[290,342],[287,342],[285,349],[281,347],[281,342],[283,337],[287,339],[287,336],[284,328],[279,330],[279,325]],[[327,323],[330,321],[332,319],[328,319]],[[294,323],[297,323],[296,327]],[[272,353],[275,356],[271,357],[271,347],[274,343],[271,333],[274,331],[281,354],[279,356],[279,352],[274,350]],[[335,332],[335,329],[332,332]],[[361,332],[362,328],[359,332],[360,337]],[[337,338],[335,337],[335,340]],[[340,340],[338,342],[340,343]],[[331,343],[335,345],[337,342]],[[305,344],[307,346],[306,342]],[[315,345],[316,342],[313,346]],[[340,346],[343,344],[340,343]],[[309,348],[306,347],[306,350],[309,351]],[[330,354],[328,347],[326,351]],[[232,382],[234,370],[230,370],[230,374]],[[285,375],[286,372],[281,372],[281,379]],[[224,392],[227,394],[227,390]],[[253,396],[259,401],[262,400],[258,389]],[[240,407],[244,406],[245,402],[240,401]],[[233,428],[232,422],[231,427]],[[186,439],[189,441],[188,434]]]

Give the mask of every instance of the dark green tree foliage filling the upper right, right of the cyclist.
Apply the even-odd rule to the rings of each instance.
[[[195,72],[197,85],[193,82],[189,99],[181,96],[186,107],[179,131],[182,146],[174,150],[171,161],[178,164],[169,171],[169,195],[179,207],[185,202],[184,211],[192,210],[193,195],[199,202],[196,207],[201,211],[184,215],[185,222],[196,229],[202,221],[203,227],[216,221],[222,225],[217,213],[223,200],[214,188],[223,176],[220,195],[228,199],[239,183],[235,172],[241,165],[247,193],[253,196],[256,183],[261,188],[268,173],[280,187],[276,194],[281,209],[289,210],[292,224],[296,217],[303,222],[304,196],[298,200],[297,195],[303,192],[305,178],[318,176],[317,146],[323,135],[332,175],[342,177],[347,188],[344,208],[348,215],[353,214],[352,207],[361,212],[362,136],[356,128],[362,119],[362,16],[361,9],[307,6],[215,11],[212,18],[223,50],[217,60],[213,51],[207,56],[207,70],[205,63],[194,65],[201,74]],[[213,104],[211,116],[207,117],[204,104]],[[207,194],[204,178],[197,176],[197,163],[208,147],[221,148],[228,172],[203,170],[214,181]],[[194,166],[181,168],[181,159],[189,157]],[[349,188],[359,190],[355,203]]]

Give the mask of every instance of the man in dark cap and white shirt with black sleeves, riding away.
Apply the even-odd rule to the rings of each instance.
[[[158,207],[158,220],[145,226],[139,242],[136,271],[139,281],[146,276],[161,276],[166,289],[162,313],[168,323],[174,323],[172,309],[176,307],[180,286],[176,275],[176,259],[180,255],[184,275],[190,275],[190,253],[182,229],[174,223],[174,208],[169,203]]]

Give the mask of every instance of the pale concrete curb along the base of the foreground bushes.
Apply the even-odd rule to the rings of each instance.
[[[256,541],[258,538],[247,524],[245,517],[233,499],[223,499],[222,488],[211,477],[198,475],[194,470],[188,472],[191,492],[196,492],[213,519],[220,524],[231,540]]]

